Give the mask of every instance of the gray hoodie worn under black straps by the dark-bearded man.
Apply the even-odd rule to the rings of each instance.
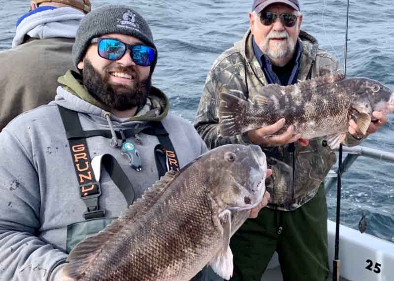
[[[109,126],[105,111],[71,72],[59,81],[64,87],[58,88],[55,101],[18,116],[0,133],[1,281],[58,280],[62,266],[57,265],[67,256],[67,225],[84,220],[86,205],[80,199],[57,104],[77,111],[84,130]],[[151,93],[154,105],[151,110],[143,110],[123,123],[112,116],[112,124],[119,129],[161,120],[182,168],[207,148],[189,121],[168,113],[168,99],[160,90],[152,87]],[[136,198],[158,180],[153,151],[159,140],[143,133],[138,138],[140,144],[134,137],[128,141],[140,153],[141,172],[131,169],[120,150],[110,146],[110,139],[100,136],[86,139],[91,158],[111,154],[117,159],[134,187]],[[100,183],[99,206],[106,210],[105,217],[119,217],[127,207],[126,199],[105,169],[101,170]]]

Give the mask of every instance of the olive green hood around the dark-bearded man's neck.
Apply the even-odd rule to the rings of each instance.
[[[105,111],[111,112],[111,109],[99,100],[95,99],[82,84],[82,76],[75,71],[68,70],[65,75],[58,78],[58,82],[63,88],[78,96],[90,104],[93,104]],[[169,110],[169,100],[167,96],[158,88],[151,86],[150,93],[147,97],[147,103],[138,110],[136,115],[129,121],[146,121],[157,122],[165,118]]]

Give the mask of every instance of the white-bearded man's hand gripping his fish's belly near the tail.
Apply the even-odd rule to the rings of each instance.
[[[267,147],[289,144],[297,141],[301,137],[301,134],[293,135],[294,126],[289,126],[286,132],[282,134],[273,135],[284,125],[285,119],[282,118],[275,124],[248,131],[248,137],[254,144]]]

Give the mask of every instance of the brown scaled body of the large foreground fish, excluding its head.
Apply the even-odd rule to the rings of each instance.
[[[160,199],[142,210],[109,241],[80,280],[185,281],[221,247],[204,175],[180,175]],[[113,272],[113,264],[117,271]],[[132,266],[130,266],[132,265]],[[179,276],[179,272],[184,273]]]

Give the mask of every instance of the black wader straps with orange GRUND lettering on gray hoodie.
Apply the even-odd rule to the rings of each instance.
[[[82,130],[82,125],[79,121],[77,112],[60,105],[58,105],[58,108],[62,117],[63,125],[66,129],[67,140],[70,145],[75,173],[79,183],[80,197],[84,200],[87,207],[87,212],[84,213],[84,218],[102,218],[105,216],[105,210],[99,209],[101,186],[91,167],[92,161],[86,144],[86,138],[93,136],[111,138],[111,132],[110,130],[84,131]],[[115,131],[115,133],[123,141],[125,141],[126,138],[135,136],[139,132],[157,136],[160,145],[155,147],[154,155],[160,179],[168,170],[178,172],[179,160],[176,156],[175,149],[169,138],[168,132],[165,130],[163,124],[161,122],[151,122],[150,125],[150,127],[142,130],[131,128]],[[113,156],[105,155],[102,159],[102,165],[108,172],[112,181],[125,196],[128,205],[131,205],[135,199],[134,188],[119,163]]]

